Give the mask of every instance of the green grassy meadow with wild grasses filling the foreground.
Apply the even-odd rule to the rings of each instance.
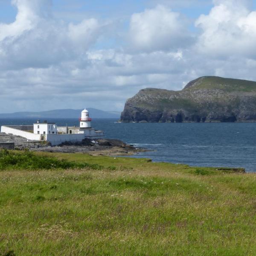
[[[0,159],[0,255],[256,255],[256,174],[36,156],[56,166]]]

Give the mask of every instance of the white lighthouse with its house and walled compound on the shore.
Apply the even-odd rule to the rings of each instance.
[[[103,131],[97,131],[91,127],[89,112],[84,109],[81,112],[80,127],[58,127],[55,123],[39,120],[33,125],[3,125],[1,132],[19,135],[28,140],[46,140],[52,145],[59,145],[64,142],[79,143],[85,138],[97,139],[104,136]]]

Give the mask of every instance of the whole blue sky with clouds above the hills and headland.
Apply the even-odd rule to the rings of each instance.
[[[0,113],[122,111],[147,87],[256,81],[256,0],[0,0]]]

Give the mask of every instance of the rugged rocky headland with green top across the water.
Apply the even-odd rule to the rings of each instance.
[[[254,122],[256,82],[204,76],[183,90],[146,88],[125,103],[122,122]]]

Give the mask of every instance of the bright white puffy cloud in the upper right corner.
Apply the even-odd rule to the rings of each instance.
[[[256,12],[249,2],[215,0],[208,15],[201,15],[195,26],[202,30],[197,49],[206,55],[229,58],[231,55],[256,57]]]

